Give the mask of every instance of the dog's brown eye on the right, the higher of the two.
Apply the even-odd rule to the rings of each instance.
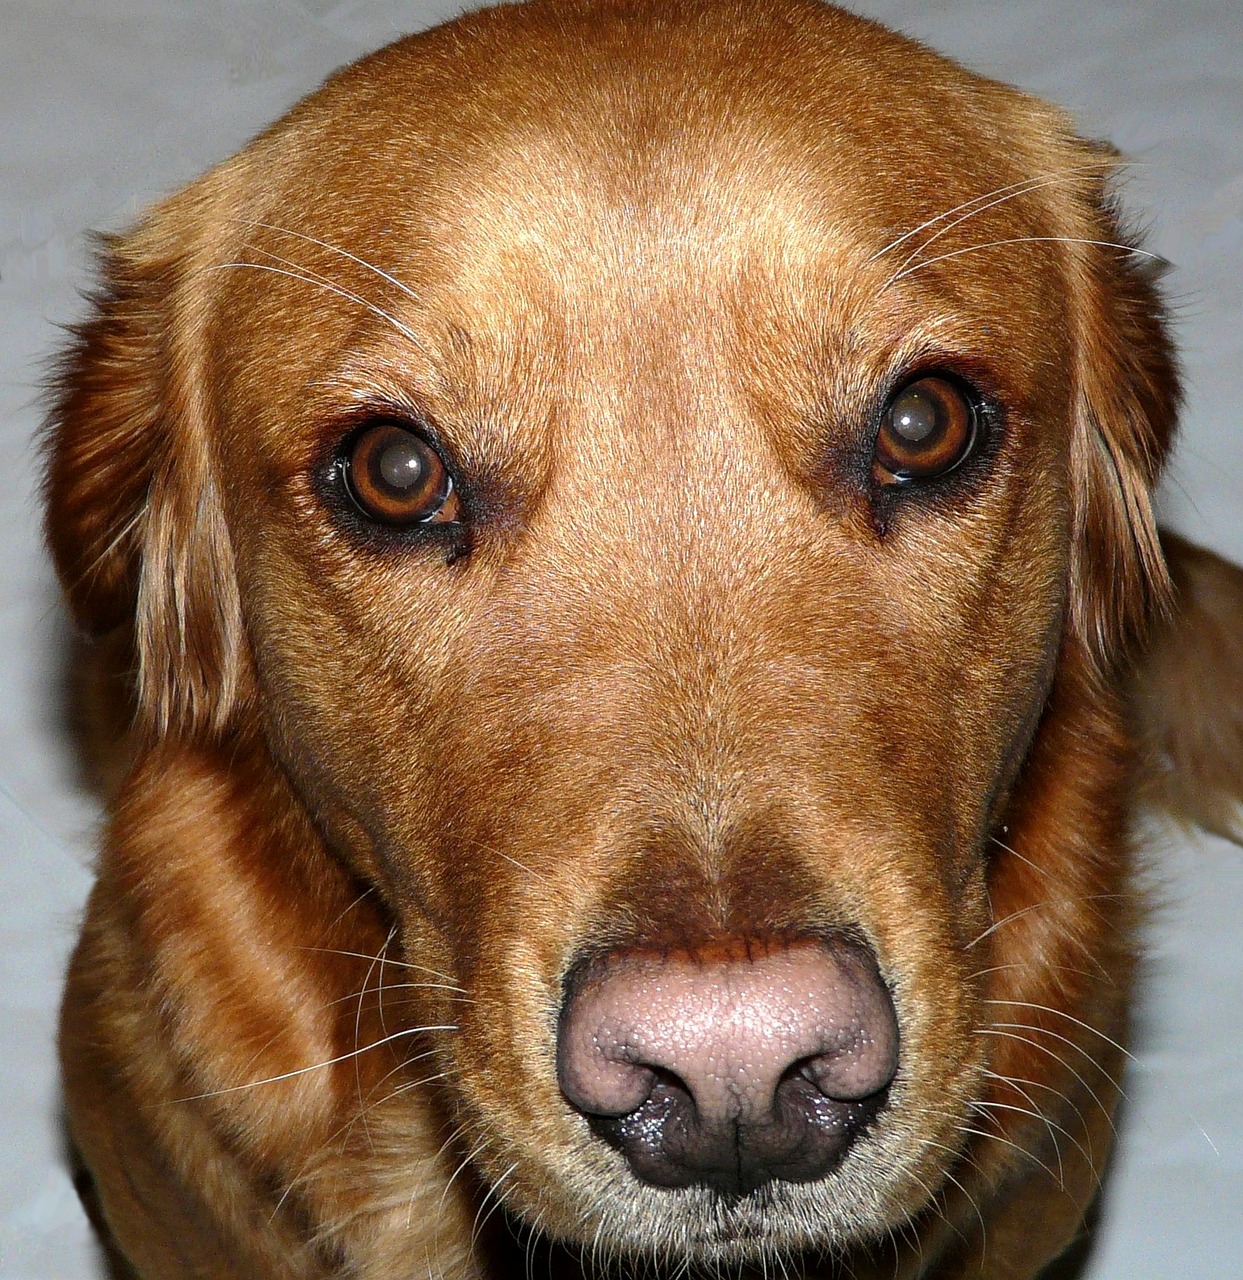
[[[954,383],[943,378],[908,383],[881,419],[873,476],[892,485],[952,471],[975,444],[977,419],[974,403]]]

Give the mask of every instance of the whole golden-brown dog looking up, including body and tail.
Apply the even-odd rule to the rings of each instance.
[[[133,713],[61,1056],[137,1275],[1079,1236],[1137,805],[1243,790],[1118,164],[812,0],[536,0],[108,242],[46,529]]]

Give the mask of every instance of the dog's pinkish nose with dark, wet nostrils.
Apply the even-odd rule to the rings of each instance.
[[[567,992],[562,1093],[655,1187],[823,1178],[897,1069],[894,1002],[844,940],[617,951]]]

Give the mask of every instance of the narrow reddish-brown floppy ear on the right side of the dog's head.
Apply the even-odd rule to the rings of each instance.
[[[1102,173],[1118,163],[1103,147],[1088,156]],[[1169,605],[1152,489],[1173,442],[1179,385],[1156,260],[1120,227],[1107,177],[1086,186],[1078,227],[1064,233],[1078,242],[1070,622],[1107,669]]]

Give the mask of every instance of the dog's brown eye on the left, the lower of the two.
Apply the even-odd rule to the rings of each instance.
[[[355,506],[385,525],[447,525],[462,504],[440,454],[397,422],[356,435],[344,456],[346,488]]]

